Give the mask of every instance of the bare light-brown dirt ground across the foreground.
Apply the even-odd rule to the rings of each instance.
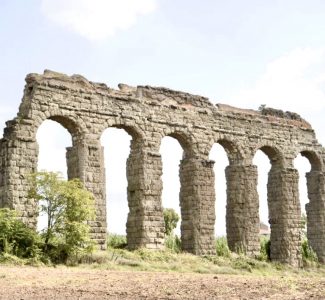
[[[0,265],[0,299],[325,299],[325,278]]]

